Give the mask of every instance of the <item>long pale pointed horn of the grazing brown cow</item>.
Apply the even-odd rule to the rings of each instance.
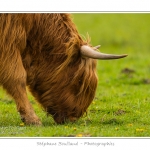
[[[99,47],[100,47],[100,45],[95,46],[94,49],[97,49]],[[81,52],[82,56],[93,58],[93,59],[102,59],[102,60],[119,59],[119,58],[128,56],[127,54],[123,54],[123,55],[104,54],[104,53],[93,50],[93,48],[91,48],[87,45],[81,46],[80,52]]]

